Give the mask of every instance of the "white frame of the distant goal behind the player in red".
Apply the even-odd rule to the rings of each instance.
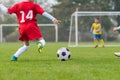
[[[15,27],[18,29],[19,24],[1,24],[0,25],[0,42],[5,42],[4,37],[3,37],[3,28],[7,27],[8,29]],[[58,42],[58,25],[57,24],[38,24],[39,27],[44,27],[44,26],[50,26],[54,27],[55,30],[55,42]]]

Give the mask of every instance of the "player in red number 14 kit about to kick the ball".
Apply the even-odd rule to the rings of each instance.
[[[38,4],[35,4],[34,0],[24,0],[15,4],[11,8],[6,8],[3,4],[0,4],[0,9],[4,13],[16,14],[19,23],[19,40],[24,42],[24,46],[18,49],[18,51],[12,56],[12,61],[17,61],[18,57],[28,50],[30,40],[37,40],[39,52],[41,52],[45,46],[46,42],[37,25],[37,14],[47,17],[52,20],[54,24],[59,24],[61,22],[47,13]]]

